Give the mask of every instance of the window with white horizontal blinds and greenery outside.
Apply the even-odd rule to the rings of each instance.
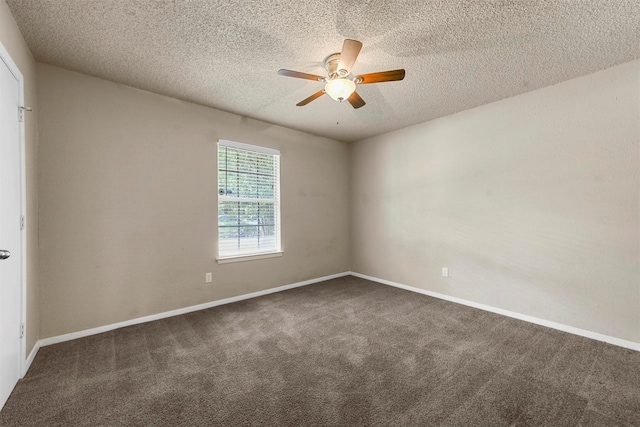
[[[218,257],[280,252],[280,152],[218,141]]]

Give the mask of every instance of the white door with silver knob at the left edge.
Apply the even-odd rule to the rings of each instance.
[[[0,408],[21,377],[22,313],[20,81],[3,51],[0,49]]]

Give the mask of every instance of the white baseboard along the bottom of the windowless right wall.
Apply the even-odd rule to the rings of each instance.
[[[415,288],[413,286],[403,285],[401,283],[392,282],[390,280],[379,279],[377,277],[367,276],[366,274],[360,274],[350,272],[352,276],[360,277],[361,279],[371,280],[372,282],[378,282],[383,285],[394,286],[396,288],[405,289],[411,292],[417,292],[419,294],[427,295],[434,298],[439,298],[446,301],[455,302],[457,304],[467,305],[469,307],[478,308],[480,310],[490,311],[492,313],[501,314],[507,317],[513,317],[514,319],[524,320],[525,322],[535,323],[536,325],[546,326],[547,328],[557,329],[559,331],[568,332],[574,335],[580,335],[586,338],[591,338],[597,341],[604,341],[609,344],[617,345],[619,347],[625,347],[631,350],[640,351],[640,343],[627,341],[620,338],[612,337],[609,335],[599,334],[597,332],[587,331],[585,329],[575,328],[573,326],[564,325],[562,323],[552,322],[550,320],[539,319],[537,317],[528,316],[526,314],[516,313],[514,311],[504,310],[502,308],[492,307],[485,304],[480,304],[473,301],[468,301],[462,298],[456,298],[445,294],[439,294],[437,292],[427,291],[425,289]]]

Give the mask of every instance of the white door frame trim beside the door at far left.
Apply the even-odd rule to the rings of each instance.
[[[24,107],[24,78],[20,69],[13,62],[13,58],[9,55],[7,49],[0,41],[0,61],[4,62],[9,68],[9,71],[18,81],[18,104],[19,107]],[[23,110],[24,114],[24,110]],[[27,180],[26,180],[26,165],[25,165],[25,122],[27,115],[23,115],[23,119],[19,126],[19,144],[20,144],[20,164],[18,168],[20,170],[20,211],[23,218],[25,218],[24,227],[20,230],[20,323],[24,325],[24,334],[20,339],[20,378],[25,376],[28,365],[26,364],[27,357],[27,227],[29,224],[26,221],[27,218]]]

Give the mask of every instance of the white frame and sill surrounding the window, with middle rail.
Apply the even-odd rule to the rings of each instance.
[[[220,164],[219,162],[219,157],[220,157],[220,148],[221,147],[227,147],[227,148],[232,148],[232,149],[237,149],[237,150],[243,150],[243,151],[248,151],[248,152],[253,152],[253,153],[257,153],[257,154],[266,154],[269,156],[273,156],[274,160],[276,162],[276,167],[275,167],[275,180],[276,180],[276,185],[274,188],[274,198],[250,198],[250,197],[239,197],[239,195],[237,197],[235,196],[227,196],[227,195],[220,195],[219,191],[220,191]],[[282,251],[282,240],[281,240],[281,236],[282,236],[282,228],[281,228],[281,220],[280,220],[280,210],[281,210],[281,192],[280,192],[280,181],[281,181],[281,173],[280,173],[280,151],[273,149],[273,148],[267,148],[267,147],[262,147],[262,146],[258,146],[258,145],[251,145],[251,144],[245,144],[245,143],[241,143],[241,142],[236,142],[236,141],[230,141],[230,140],[225,140],[225,139],[219,139],[217,146],[216,146],[216,178],[217,178],[217,190],[216,191],[216,195],[217,195],[217,212],[218,212],[218,216],[217,216],[217,220],[216,220],[216,243],[217,243],[217,258],[216,261],[218,262],[218,264],[225,264],[225,263],[229,263],[229,262],[238,262],[238,261],[249,261],[249,260],[255,260],[255,259],[264,259],[264,258],[272,258],[272,257],[278,257],[278,256],[282,256],[283,251]],[[230,201],[230,202],[262,202],[262,203],[273,203],[273,207],[274,207],[274,228],[275,228],[275,247],[270,246],[268,249],[265,250],[260,250],[259,248],[257,250],[254,251],[238,251],[238,252],[227,252],[224,254],[221,254],[220,251],[220,216],[221,215],[225,215],[225,214],[221,214],[220,213],[220,201]],[[238,226],[239,228],[241,226]],[[240,237],[239,237],[240,239]]]

